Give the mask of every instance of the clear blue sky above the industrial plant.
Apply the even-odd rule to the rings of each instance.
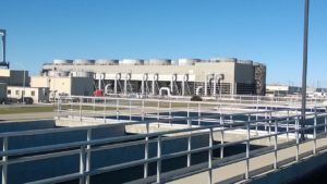
[[[0,0],[8,60],[234,57],[267,82],[301,84],[303,0]],[[310,86],[327,87],[327,1],[312,0]]]

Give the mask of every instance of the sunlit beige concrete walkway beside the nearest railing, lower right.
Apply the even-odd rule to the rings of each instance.
[[[324,146],[327,146],[327,138],[322,138],[317,140],[317,148],[322,148]],[[304,144],[300,145],[300,155],[301,154],[307,154],[308,151],[312,151],[314,148],[314,143],[313,142],[307,142]],[[294,158],[295,158],[295,154],[296,154],[296,147],[292,146],[282,150],[279,150],[277,154],[277,158],[278,158],[278,162],[280,161],[286,161],[289,159],[290,164],[294,163]],[[269,169],[272,167],[274,164],[274,152],[271,154],[266,154],[259,157],[255,157],[250,159],[250,172],[258,172],[259,169]],[[240,161],[240,162],[235,162],[232,164],[228,164],[218,169],[214,169],[213,170],[213,183],[235,183],[237,181],[227,181],[229,179],[242,179],[244,176],[245,173],[245,161]],[[313,168],[314,169],[314,168]],[[270,171],[274,171],[274,169],[271,169]],[[263,172],[261,174],[265,174],[267,172]],[[294,175],[295,176],[295,175]],[[194,183],[194,184],[202,184],[202,183],[209,183],[208,181],[209,176],[208,176],[208,172],[202,172],[198,174],[194,174],[191,176],[186,176],[173,182],[170,182],[169,184],[190,184],[190,183]],[[243,182],[245,182],[243,180]]]

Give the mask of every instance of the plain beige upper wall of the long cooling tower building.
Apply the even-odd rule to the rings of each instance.
[[[82,71],[94,73],[132,73],[132,74],[195,74],[195,82],[205,82],[207,74],[219,73],[225,75],[225,83],[247,83],[254,79],[254,69],[251,64],[234,62],[195,63],[194,65],[45,65],[46,70]]]

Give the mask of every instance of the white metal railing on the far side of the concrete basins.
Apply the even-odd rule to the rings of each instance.
[[[322,105],[308,106],[307,110],[313,112],[315,109],[325,108]],[[279,110],[281,109],[281,110]],[[284,110],[289,109],[289,110]],[[160,118],[161,112],[168,112],[168,116],[175,111],[185,111],[187,115],[190,112],[197,112],[198,116],[202,113],[251,113],[259,115],[271,111],[272,115],[276,113],[295,113],[299,106],[271,106],[269,103],[230,103],[217,101],[183,101],[183,100],[165,100],[165,99],[132,99],[132,98],[113,98],[113,97],[61,97],[58,101],[56,118],[61,119],[65,116],[76,118],[81,121],[85,118],[106,119],[111,115],[117,120],[121,115],[128,115],[132,121],[133,115],[144,115],[146,113],[157,114]],[[267,115],[267,114],[266,114]]]

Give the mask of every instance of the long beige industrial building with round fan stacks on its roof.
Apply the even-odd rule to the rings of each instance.
[[[92,76],[95,88],[143,96],[265,95],[266,66],[234,58],[53,60],[41,75]]]

